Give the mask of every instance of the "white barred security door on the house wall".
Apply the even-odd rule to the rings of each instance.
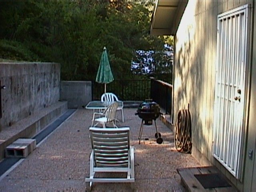
[[[248,6],[218,15],[214,157],[240,177],[246,78]]]

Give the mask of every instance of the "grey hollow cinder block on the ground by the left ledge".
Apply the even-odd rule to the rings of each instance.
[[[5,148],[5,156],[6,158],[26,158],[35,148],[35,139],[17,139]]]

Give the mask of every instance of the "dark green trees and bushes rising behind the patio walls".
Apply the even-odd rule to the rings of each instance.
[[[114,78],[127,79],[134,50],[163,48],[164,38],[149,35],[150,8],[106,0],[0,1],[6,39],[0,56],[59,62],[62,80],[95,80],[106,46]]]

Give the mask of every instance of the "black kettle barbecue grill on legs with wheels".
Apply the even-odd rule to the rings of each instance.
[[[152,99],[146,99],[145,102],[139,105],[138,110],[135,113],[135,115],[138,115],[139,118],[142,119],[141,126],[140,126],[140,134],[138,138],[139,144],[142,136],[143,124],[152,125],[153,120],[155,122],[155,127],[156,127],[156,133],[155,133],[156,142],[158,144],[161,144],[163,142],[163,139],[161,138],[161,134],[160,132],[158,132],[158,128],[156,125],[156,119],[160,116],[160,114],[162,114],[160,112],[160,106],[156,102],[152,102]]]

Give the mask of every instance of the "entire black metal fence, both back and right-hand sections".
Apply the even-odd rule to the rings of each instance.
[[[172,116],[172,85],[154,78],[146,80],[114,80],[106,85],[106,92],[112,92],[123,101],[144,101],[152,99]],[[92,98],[100,100],[104,84],[92,82]]]

